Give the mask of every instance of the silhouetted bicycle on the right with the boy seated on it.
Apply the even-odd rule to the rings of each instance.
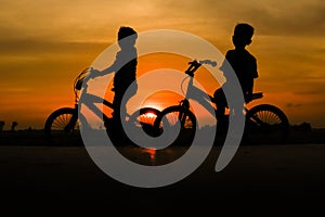
[[[214,98],[210,94],[207,98],[198,97],[202,95],[200,89],[193,85],[194,74],[195,72],[203,65],[209,64],[213,67],[217,66],[217,62],[205,60],[205,61],[192,61],[188,63],[190,66],[185,71],[187,75],[183,81],[181,82],[181,87],[183,82],[188,79],[187,89],[184,93],[185,98],[180,101],[178,105],[171,105],[164,108],[159,116],[157,116],[154,127],[156,129],[156,137],[161,135],[165,127],[176,127],[178,123],[180,124],[180,132],[172,143],[176,144],[191,144],[193,138],[195,137],[195,131],[197,130],[197,122],[196,116],[191,111],[190,99],[193,99],[197,102],[209,103],[212,106],[212,112],[209,113],[216,114],[217,104],[214,102]],[[190,94],[190,92],[192,94]],[[198,94],[193,94],[193,92],[198,92]],[[195,97],[195,98],[194,98]],[[252,93],[251,98],[245,99],[244,103],[244,113],[245,113],[245,130],[244,130],[244,139],[248,142],[264,142],[264,143],[278,143],[284,142],[288,136],[289,130],[289,122],[285,113],[275,105],[272,104],[258,104],[250,110],[247,107],[247,104],[253,100],[258,100],[263,98],[262,92]],[[200,103],[202,104],[202,103]],[[214,117],[216,115],[212,114]],[[229,116],[229,114],[224,114],[224,117]],[[165,118],[166,117],[166,118]],[[216,117],[217,119],[217,117]],[[229,118],[225,118],[229,119]],[[218,123],[218,119],[217,119]],[[217,124],[218,126],[218,124]],[[227,128],[225,125],[223,128]],[[217,127],[218,129],[218,127]],[[226,129],[225,129],[226,130]],[[218,135],[219,129],[217,130]],[[217,136],[216,135],[216,136]],[[243,141],[243,140],[242,140]]]

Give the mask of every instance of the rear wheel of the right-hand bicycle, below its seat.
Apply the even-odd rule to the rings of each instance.
[[[289,132],[285,113],[270,104],[260,104],[246,114],[245,139],[249,143],[283,143]]]

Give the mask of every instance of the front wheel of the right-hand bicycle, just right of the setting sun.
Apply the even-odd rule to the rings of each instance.
[[[168,130],[166,130],[169,128]],[[180,128],[179,135],[171,145],[191,145],[196,131],[196,117],[190,110],[174,105],[165,108],[160,116],[155,120],[155,129],[159,135],[164,131],[174,132],[173,129]]]

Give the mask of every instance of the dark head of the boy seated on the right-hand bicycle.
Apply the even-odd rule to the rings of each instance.
[[[234,29],[233,42],[234,46],[245,48],[251,43],[251,37],[253,35],[253,27],[249,24],[237,24]]]

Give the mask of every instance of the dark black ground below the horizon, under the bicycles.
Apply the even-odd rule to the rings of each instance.
[[[82,145],[57,146],[37,132],[15,133],[0,140],[0,207],[9,212],[5,216],[325,215],[324,133],[310,132],[310,138],[299,133],[296,142],[292,138],[286,144],[242,145],[219,173],[213,167],[220,146],[214,146],[192,175],[154,189],[108,177]],[[150,153],[120,149],[155,164]],[[164,157],[182,149],[173,148]]]

